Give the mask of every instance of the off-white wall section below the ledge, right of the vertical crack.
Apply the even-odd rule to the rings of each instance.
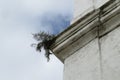
[[[120,80],[120,26],[101,38],[103,80]]]

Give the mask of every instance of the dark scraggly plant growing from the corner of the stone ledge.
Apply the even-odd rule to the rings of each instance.
[[[45,50],[45,57],[47,58],[47,61],[49,61],[50,55],[52,54],[50,47],[55,41],[55,35],[40,31],[39,33],[33,34],[33,38],[37,40],[38,43],[32,44],[32,46],[35,46],[36,51],[39,52],[41,52],[41,48],[43,48]]]

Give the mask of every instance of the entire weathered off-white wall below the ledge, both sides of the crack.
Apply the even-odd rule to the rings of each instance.
[[[98,39],[91,41],[64,65],[64,80],[120,80],[120,26],[101,37],[100,46]]]

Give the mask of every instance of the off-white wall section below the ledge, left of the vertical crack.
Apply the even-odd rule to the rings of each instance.
[[[98,39],[65,60],[64,80],[100,80]]]

